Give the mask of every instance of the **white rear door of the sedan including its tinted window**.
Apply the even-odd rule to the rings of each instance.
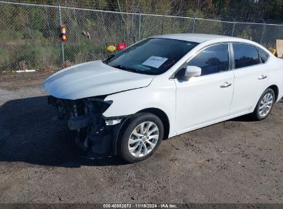
[[[269,70],[262,63],[257,47],[245,43],[232,45],[235,80],[230,115],[251,111],[269,78]]]

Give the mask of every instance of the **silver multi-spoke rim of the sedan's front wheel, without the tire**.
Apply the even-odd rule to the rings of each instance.
[[[158,126],[154,122],[138,124],[129,136],[129,153],[134,157],[148,155],[156,146],[159,137]]]

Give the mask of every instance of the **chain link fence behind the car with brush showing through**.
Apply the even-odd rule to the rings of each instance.
[[[64,53],[59,16],[67,31]],[[283,25],[0,1],[0,72],[94,61],[108,55],[107,45],[171,33],[235,36],[275,47],[276,39],[283,39]]]

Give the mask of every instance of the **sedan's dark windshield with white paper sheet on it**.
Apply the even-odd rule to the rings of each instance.
[[[110,56],[104,63],[139,74],[159,75],[177,63],[198,43],[174,39],[145,39]]]

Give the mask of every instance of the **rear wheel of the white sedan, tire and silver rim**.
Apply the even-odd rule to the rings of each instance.
[[[264,120],[267,118],[273,109],[274,103],[275,94],[273,89],[266,89],[252,113],[253,118],[255,120]]]

